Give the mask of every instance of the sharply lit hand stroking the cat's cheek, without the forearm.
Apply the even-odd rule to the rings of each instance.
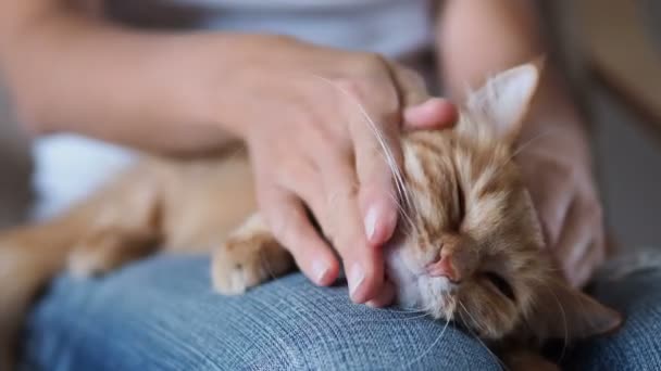
[[[386,304],[378,247],[398,218],[390,166],[401,164],[402,124],[447,127],[457,112],[429,99],[415,73],[375,54],[283,38],[266,50],[267,59],[241,68],[237,97],[249,95],[250,104],[245,125],[234,126],[242,128],[265,220],[303,273],[327,285],[339,265],[310,223],[309,207],[342,259],[351,298]]]

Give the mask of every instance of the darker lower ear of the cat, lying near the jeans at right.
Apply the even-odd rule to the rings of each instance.
[[[622,316],[559,279],[539,287],[529,327],[541,340],[579,340],[610,333]]]

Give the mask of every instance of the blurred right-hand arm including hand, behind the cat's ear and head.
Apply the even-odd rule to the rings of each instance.
[[[547,53],[534,3],[450,0],[440,10],[439,65],[456,99],[495,72]],[[604,257],[587,127],[562,75],[547,63],[520,140],[521,165],[549,248],[574,284]],[[529,144],[529,145],[528,145]]]

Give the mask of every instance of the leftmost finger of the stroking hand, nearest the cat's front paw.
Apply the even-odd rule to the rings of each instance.
[[[319,285],[333,283],[339,272],[338,261],[312,227],[300,200],[277,187],[261,193],[274,236],[291,253],[301,271]]]

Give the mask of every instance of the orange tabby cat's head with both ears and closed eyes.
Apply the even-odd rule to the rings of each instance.
[[[403,143],[407,213],[386,248],[388,277],[404,307],[486,340],[571,340],[621,322],[560,278],[513,162],[539,74],[531,63],[495,76],[452,130]]]

